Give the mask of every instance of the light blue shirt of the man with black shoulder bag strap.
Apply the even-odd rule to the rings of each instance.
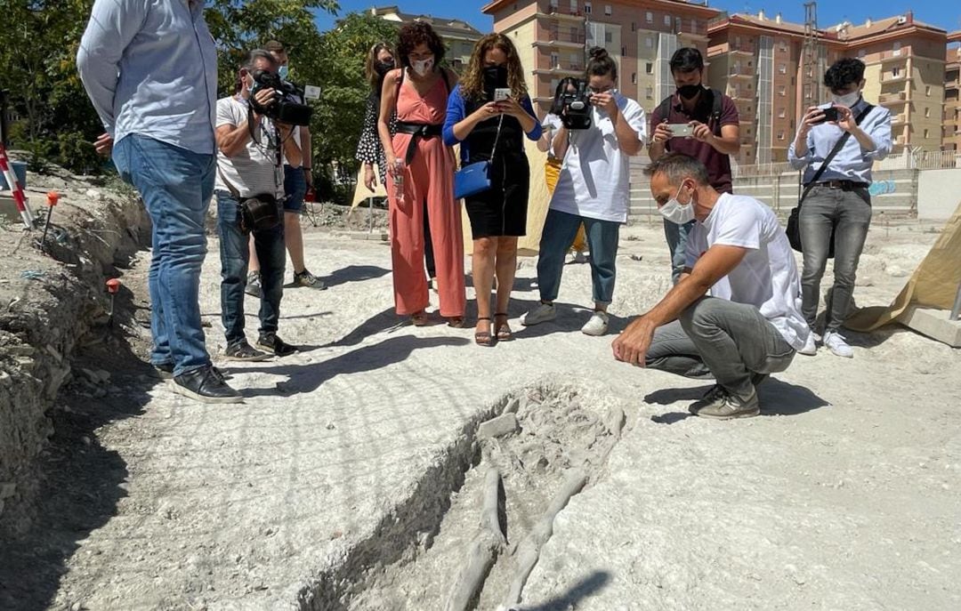
[[[850,111],[857,117],[866,105],[867,102],[861,98]],[[831,105],[825,104],[820,108],[826,109],[829,106]],[[871,183],[871,166],[875,159],[884,159],[891,153],[891,111],[875,106],[861,120],[860,128],[875,141],[874,150],[869,151],[863,148],[857,138],[851,135],[844,147],[838,151],[834,159],[831,159],[824,174],[818,179],[819,183],[823,181]],[[825,158],[843,134],[844,130],[830,123],[815,125],[807,133],[807,155],[803,157],[795,154],[794,142],[791,142],[787,150],[787,160],[791,162],[791,167],[797,170],[805,168],[802,179],[804,184],[811,182],[815,172],[825,162]]]

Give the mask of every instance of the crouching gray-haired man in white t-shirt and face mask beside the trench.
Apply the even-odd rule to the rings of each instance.
[[[771,208],[715,191],[697,159],[669,154],[645,173],[665,218],[697,223],[678,284],[614,340],[614,357],[713,377],[717,384],[690,406],[698,416],[756,416],[757,384],[787,369],[811,332],[787,236]]]

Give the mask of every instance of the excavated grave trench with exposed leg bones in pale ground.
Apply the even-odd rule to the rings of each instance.
[[[604,474],[622,407],[545,382],[464,428],[406,506],[301,594],[303,609],[523,609],[554,518]]]

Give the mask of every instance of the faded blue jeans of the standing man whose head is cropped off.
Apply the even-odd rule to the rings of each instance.
[[[139,191],[152,222],[150,361],[172,363],[175,376],[205,367],[210,357],[200,324],[200,268],[216,160],[131,134],[114,143],[113,164]]]

